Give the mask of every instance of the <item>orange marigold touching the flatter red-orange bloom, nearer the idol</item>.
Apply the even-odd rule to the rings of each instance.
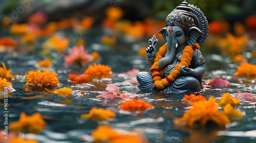
[[[109,78],[112,76],[112,68],[108,65],[101,65],[94,63],[90,65],[86,71],[84,71],[84,75],[89,75],[92,78]]]

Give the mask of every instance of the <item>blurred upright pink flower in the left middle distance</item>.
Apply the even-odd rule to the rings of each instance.
[[[83,66],[92,60],[93,56],[88,54],[82,45],[74,46],[69,55],[64,57],[65,66],[71,66],[73,64]]]

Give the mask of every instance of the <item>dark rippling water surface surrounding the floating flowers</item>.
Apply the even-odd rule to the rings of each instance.
[[[74,38],[72,34],[68,36]],[[100,35],[87,34],[86,36],[86,50],[89,53],[97,50],[101,55],[100,63],[112,67],[113,76],[95,80],[90,85],[71,84],[67,82],[68,74],[82,74],[86,67],[82,69],[77,67],[65,68],[63,67],[63,58],[58,53],[53,53],[53,59],[56,61],[53,69],[58,74],[57,77],[61,83],[59,88],[66,86],[73,89],[73,95],[69,98],[56,96],[47,93],[45,90],[24,90],[25,74],[29,70],[35,70],[35,64],[45,58],[41,54],[40,44],[35,46],[34,52],[17,53],[16,55],[15,53],[0,54],[0,61],[4,61],[8,65],[7,68],[12,68],[12,74],[19,75],[15,80],[11,81],[16,91],[11,93],[8,99],[9,123],[17,121],[21,112],[26,112],[27,115],[39,112],[47,122],[47,128],[40,135],[32,137],[41,142],[81,142],[79,136],[81,134],[91,134],[91,131],[96,129],[98,124],[90,120],[81,120],[80,114],[89,113],[92,107],[98,107],[111,109],[116,113],[114,121],[111,122],[112,128],[141,130],[151,142],[256,142],[256,131],[251,133],[254,137],[234,132],[256,129],[255,103],[242,102],[239,110],[244,113],[244,116],[240,120],[233,120],[227,129],[191,130],[174,127],[174,119],[182,116],[187,109],[187,105],[181,102],[184,94],[140,91],[136,85],[124,82],[125,78],[117,76],[133,67],[141,71],[149,71],[150,64],[147,62],[146,57],[138,56],[136,51],[138,47],[147,45],[147,39],[143,40],[143,42],[125,42],[120,39],[117,45],[105,46],[99,44]],[[160,39],[160,37],[158,38]],[[41,39],[41,41],[44,41],[44,39]],[[220,99],[225,92],[230,92],[232,95],[239,90],[241,92],[256,93],[255,80],[233,78],[232,74],[236,71],[236,65],[218,54],[211,54],[210,50],[204,49],[203,46],[201,49],[207,60],[207,72],[203,76],[203,81],[214,77],[230,81],[230,88],[204,88],[201,92],[203,96],[207,98],[215,96]],[[248,85],[241,83],[241,81],[254,82],[254,84]],[[123,93],[145,99],[148,103],[153,104],[155,108],[143,113],[128,113],[118,109],[122,100],[96,98],[96,96],[105,91],[106,85],[110,83],[118,86]],[[81,96],[81,91],[84,91],[84,96]],[[0,100],[0,102],[4,103],[3,100]],[[1,108],[3,109],[3,107]],[[1,116],[1,123],[3,123],[2,121],[3,118]],[[4,128],[4,125],[1,124],[0,128]],[[227,131],[225,133],[228,134],[223,136],[221,131]]]

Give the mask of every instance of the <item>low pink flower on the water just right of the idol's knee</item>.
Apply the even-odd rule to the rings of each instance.
[[[212,88],[228,88],[229,81],[223,79],[212,78],[203,83],[204,85],[209,85]]]

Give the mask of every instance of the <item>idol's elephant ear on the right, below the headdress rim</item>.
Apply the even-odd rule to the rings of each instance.
[[[201,33],[202,31],[197,27],[191,27],[188,30],[187,44],[190,46],[194,46]]]

